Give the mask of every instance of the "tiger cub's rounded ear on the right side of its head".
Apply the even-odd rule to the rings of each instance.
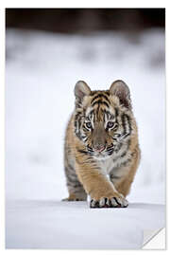
[[[122,80],[116,80],[110,85],[110,94],[115,95],[119,98],[121,104],[128,109],[131,109],[130,92],[127,84]]]

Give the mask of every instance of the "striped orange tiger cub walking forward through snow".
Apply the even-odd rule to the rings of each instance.
[[[76,107],[68,123],[64,164],[69,197],[87,200],[91,208],[127,207],[126,199],[140,162],[138,130],[127,84],[110,90],[75,86]]]

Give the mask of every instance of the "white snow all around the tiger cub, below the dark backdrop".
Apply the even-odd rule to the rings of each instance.
[[[163,31],[80,36],[10,29],[6,44],[6,246],[141,247],[149,223],[164,225]],[[63,138],[75,83],[106,89],[116,79],[130,88],[142,150],[131,204],[90,210],[85,203],[59,203],[67,196]]]

